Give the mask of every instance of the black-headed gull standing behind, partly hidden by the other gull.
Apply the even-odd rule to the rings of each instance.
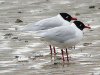
[[[67,13],[60,13],[57,16],[40,20],[36,23],[28,25],[22,29],[22,31],[41,31],[47,30],[54,27],[59,27],[64,25],[63,23],[66,22],[65,25],[69,25],[71,20],[77,20],[77,18],[71,17]],[[50,46],[50,51],[52,55],[52,47]],[[55,47],[53,47],[54,53],[56,54]]]

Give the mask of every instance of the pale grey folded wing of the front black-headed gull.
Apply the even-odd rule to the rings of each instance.
[[[40,32],[40,37],[44,41],[56,41],[64,43],[65,41],[75,37],[75,30],[72,26],[60,26]]]

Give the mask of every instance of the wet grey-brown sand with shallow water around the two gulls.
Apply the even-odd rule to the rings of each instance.
[[[59,49],[51,60],[47,45],[18,31],[59,12],[68,12],[92,27],[84,31],[75,50],[68,50],[69,64],[62,63]],[[100,75],[99,24],[99,0],[0,0],[0,75]]]

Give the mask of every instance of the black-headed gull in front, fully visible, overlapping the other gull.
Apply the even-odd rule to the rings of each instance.
[[[75,46],[81,41],[83,38],[82,30],[84,28],[90,29],[89,26],[85,26],[81,21],[74,21],[67,26],[65,22],[62,26],[39,31],[37,32],[37,36],[41,41],[59,47],[62,51],[63,61],[65,61],[63,49],[66,49],[67,61],[69,61],[67,48]]]

